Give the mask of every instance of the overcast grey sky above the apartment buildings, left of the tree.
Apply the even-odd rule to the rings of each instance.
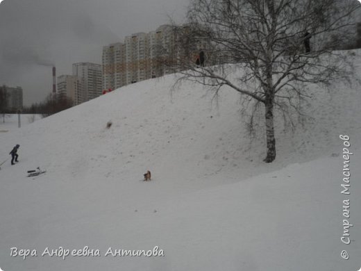
[[[42,101],[72,63],[101,64],[103,45],[126,35],[183,23],[189,0],[3,0],[0,85],[21,86],[24,104]]]

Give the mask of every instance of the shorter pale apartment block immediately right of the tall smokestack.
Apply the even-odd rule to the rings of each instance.
[[[58,76],[58,95],[69,97],[73,101],[73,106],[83,102],[83,83],[78,76],[61,75]]]

